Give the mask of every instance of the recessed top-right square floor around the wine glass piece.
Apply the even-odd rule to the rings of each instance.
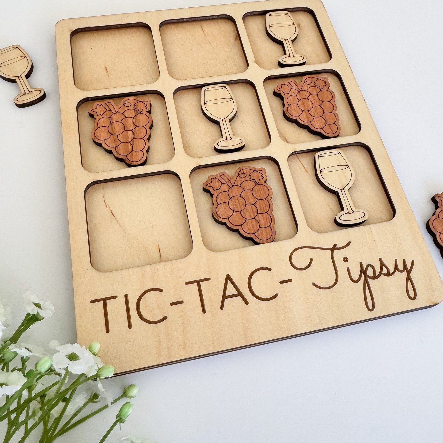
[[[306,57],[307,65],[329,62],[330,54],[314,12],[306,8],[303,10],[277,9],[276,11],[288,12],[297,24],[299,33],[292,44],[297,54]],[[246,14],[243,17],[243,23],[245,23],[257,65],[264,69],[276,69],[280,67],[278,60],[284,55],[284,50],[282,44],[271,40],[266,33],[266,13],[267,11]]]

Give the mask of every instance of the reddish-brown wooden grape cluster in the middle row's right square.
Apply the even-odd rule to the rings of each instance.
[[[274,95],[283,99],[283,115],[286,120],[325,137],[337,137],[340,133],[335,94],[329,89],[327,77],[303,78],[301,83],[280,83]]]

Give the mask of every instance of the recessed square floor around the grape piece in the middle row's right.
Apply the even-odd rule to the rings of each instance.
[[[279,83],[287,83],[291,80],[300,83],[303,80],[303,77],[309,75],[314,77],[326,77],[330,83],[330,90],[335,94],[335,105],[337,106],[337,114],[341,128],[338,138],[358,134],[358,132],[360,132],[360,124],[354,115],[353,108],[348,100],[348,95],[344,90],[338,74],[316,72],[296,77],[269,78],[264,81],[264,89],[268,96],[269,105],[271,106],[272,115],[274,116],[280,138],[290,144],[322,140],[321,136],[312,134],[307,129],[301,128],[297,123],[286,120],[283,113],[283,99],[280,98],[281,96],[277,97],[274,95],[274,89]]]

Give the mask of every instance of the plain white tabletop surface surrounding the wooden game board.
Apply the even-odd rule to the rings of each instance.
[[[2,1],[0,47],[22,45],[35,63],[31,85],[47,92],[18,109],[17,86],[0,81],[0,295],[16,315],[25,291],[52,300],[56,314],[35,326],[33,341],[75,341],[55,23],[219,2]],[[425,229],[430,198],[443,191],[442,3],[324,3],[443,273]],[[106,383],[110,392],[125,382],[141,389],[108,441],[132,434],[159,443],[442,442],[442,319],[438,305],[116,378]],[[116,413],[60,441],[98,442]]]

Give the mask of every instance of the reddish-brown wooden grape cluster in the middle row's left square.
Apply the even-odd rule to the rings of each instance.
[[[150,100],[128,97],[119,108],[112,100],[97,101],[88,112],[95,118],[95,144],[127,166],[146,163],[152,128]]]

